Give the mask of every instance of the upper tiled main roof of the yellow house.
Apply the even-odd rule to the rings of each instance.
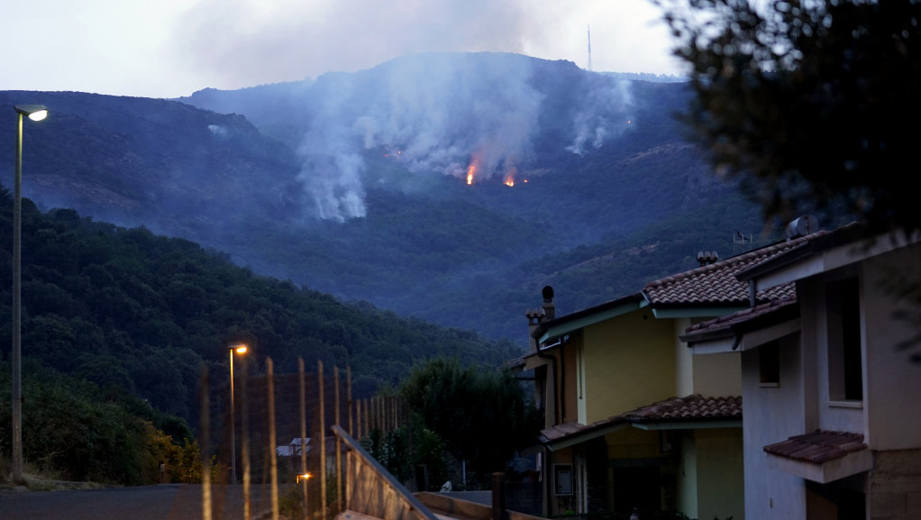
[[[643,295],[651,306],[748,305],[748,283],[738,280],[737,273],[797,248],[823,233],[819,231],[805,237],[778,242],[649,282],[643,288]],[[755,296],[758,302],[766,302],[794,295],[795,292],[793,283],[786,283],[759,291]]]

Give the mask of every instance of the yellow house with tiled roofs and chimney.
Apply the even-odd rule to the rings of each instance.
[[[726,260],[703,255],[694,270],[561,317],[544,288],[543,306],[527,313],[530,350],[521,360],[544,416],[544,514],[744,517],[740,360],[694,356],[679,336],[752,301],[793,295],[792,283],[750,293],[736,274],[798,243]]]

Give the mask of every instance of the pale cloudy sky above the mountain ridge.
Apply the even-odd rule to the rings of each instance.
[[[3,0],[0,90],[178,98],[420,52],[681,75],[649,0]]]

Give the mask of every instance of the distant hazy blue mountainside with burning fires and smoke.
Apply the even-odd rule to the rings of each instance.
[[[0,111],[50,109],[25,129],[23,193],[42,211],[523,346],[545,284],[577,310],[764,227],[685,139],[689,96],[484,52],[177,100],[7,91]]]

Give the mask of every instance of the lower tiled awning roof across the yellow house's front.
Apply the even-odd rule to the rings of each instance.
[[[614,415],[591,424],[565,422],[541,431],[547,444],[565,440],[582,434],[589,434],[605,428],[626,423],[645,422],[690,422],[690,421],[725,421],[742,417],[742,399],[740,397],[705,398],[693,394],[684,398],[671,398],[650,405]]]

